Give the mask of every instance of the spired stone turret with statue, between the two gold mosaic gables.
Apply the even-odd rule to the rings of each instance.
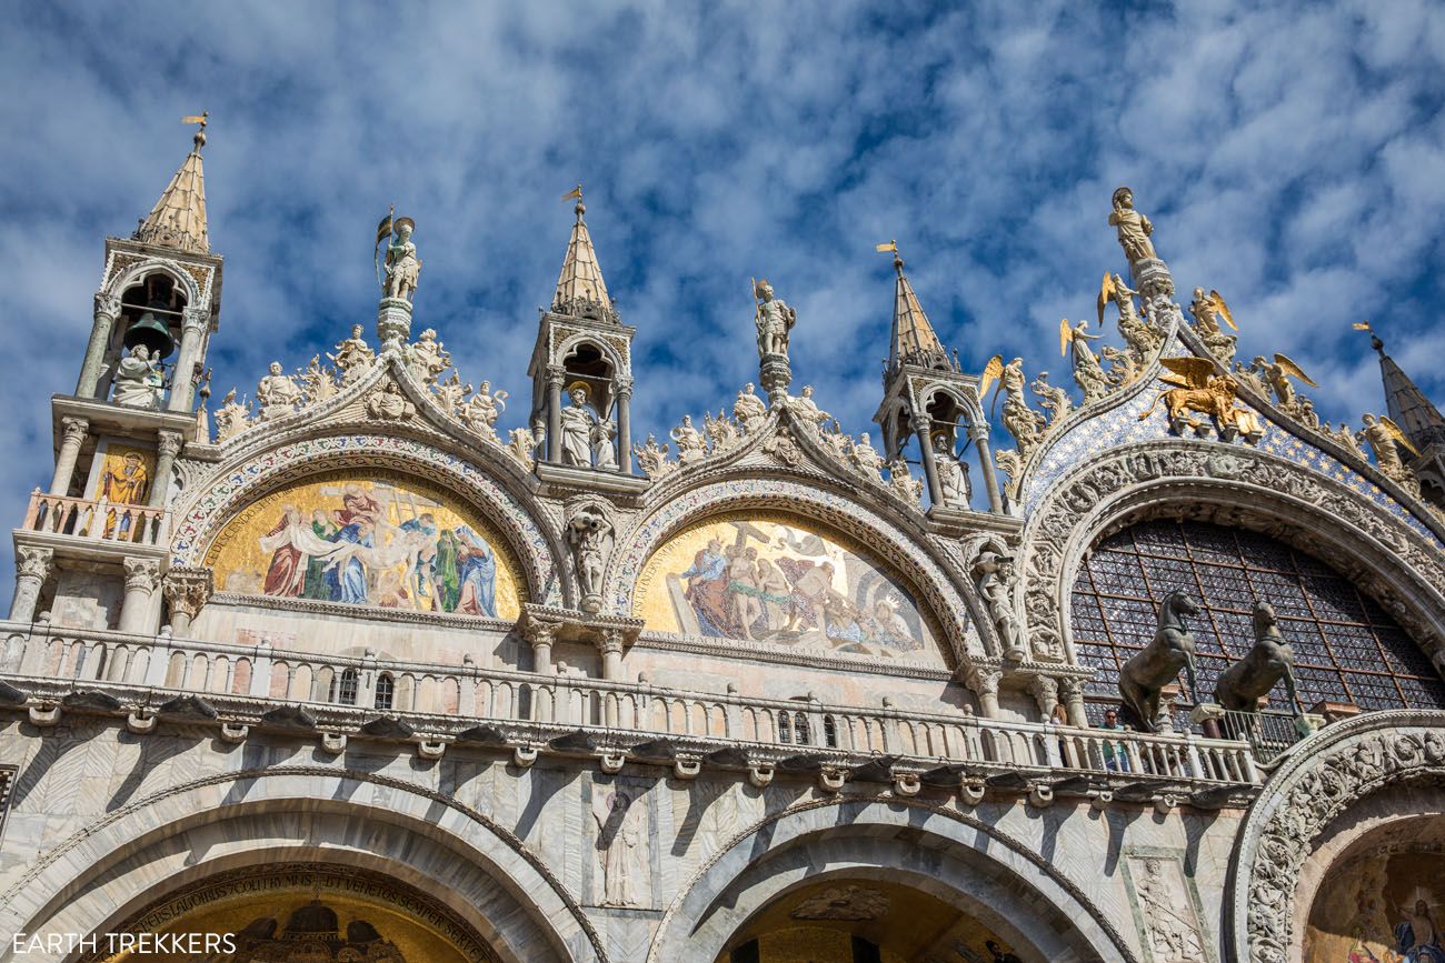
[[[538,474],[561,469],[571,481],[631,478],[631,339],[634,329],[621,323],[607,295],[597,250],[582,215],[582,188],[577,221],[562,260],[552,306],[542,312],[532,349],[532,430],[542,452]]]

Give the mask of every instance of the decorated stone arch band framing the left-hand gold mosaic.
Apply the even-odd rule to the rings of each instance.
[[[566,553],[548,513],[529,492],[499,484],[435,439],[402,433],[374,433],[370,426],[328,426],[328,433],[308,429],[296,437],[223,463],[198,485],[194,497],[178,505],[171,536],[176,565],[201,565],[214,537],[244,505],[289,482],[335,469],[390,468],[413,474],[457,492],[503,534],[526,580],[527,598],[546,605],[564,603],[558,579]]]

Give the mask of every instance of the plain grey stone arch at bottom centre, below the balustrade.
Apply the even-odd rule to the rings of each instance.
[[[750,917],[819,868],[946,894],[1039,959],[1139,960],[1107,912],[997,826],[918,800],[837,797],[769,814],[722,846],[678,888],[647,963],[717,959]]]

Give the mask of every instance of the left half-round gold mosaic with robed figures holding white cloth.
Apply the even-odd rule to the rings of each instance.
[[[223,592],[512,619],[525,582],[506,540],[420,479],[332,472],[231,518],[205,563]]]

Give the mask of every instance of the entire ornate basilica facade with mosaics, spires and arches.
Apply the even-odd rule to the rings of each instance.
[[[204,143],[14,530],[0,959],[1445,963],[1445,419],[1376,332],[1322,424],[1121,188],[1072,377],[887,244],[874,432],[757,282],[659,442],[578,189],[530,398],[389,217],[376,328],[212,403]]]

